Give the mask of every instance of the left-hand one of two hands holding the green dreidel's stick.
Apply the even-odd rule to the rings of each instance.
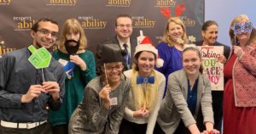
[[[41,85],[30,86],[26,94],[21,96],[21,103],[30,103],[33,98],[38,98],[41,92],[46,93],[46,91]]]

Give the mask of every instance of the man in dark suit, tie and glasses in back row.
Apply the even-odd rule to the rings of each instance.
[[[132,57],[137,44],[136,40],[131,40],[132,33],[132,19],[129,14],[119,14],[115,20],[116,36],[108,38],[101,42],[96,47],[96,74],[100,75],[100,61],[102,59],[102,46],[108,44],[115,44],[124,53],[124,70],[131,69]]]

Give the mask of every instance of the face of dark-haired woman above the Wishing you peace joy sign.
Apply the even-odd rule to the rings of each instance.
[[[210,25],[207,27],[206,31],[201,31],[201,35],[204,37],[204,42],[208,45],[213,45],[217,42],[218,38],[218,26]]]

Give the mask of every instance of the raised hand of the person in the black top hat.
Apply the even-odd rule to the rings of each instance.
[[[102,99],[103,105],[106,109],[109,109],[109,106],[110,106],[110,98],[109,98],[110,92],[111,92],[111,87],[109,86],[109,84],[103,87],[101,92],[99,92],[99,96]]]

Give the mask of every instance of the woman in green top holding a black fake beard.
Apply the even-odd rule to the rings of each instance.
[[[49,122],[54,134],[67,134],[67,125],[73,110],[84,97],[84,87],[96,77],[96,63],[78,20],[66,20],[58,49],[52,54],[66,71],[65,99],[58,111],[49,112]]]

